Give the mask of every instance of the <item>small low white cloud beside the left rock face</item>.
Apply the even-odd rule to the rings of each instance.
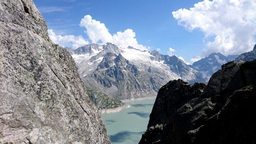
[[[48,34],[52,42],[58,44],[62,47],[67,47],[72,45],[72,48],[78,48],[84,45],[89,44],[82,36],[74,36],[74,35],[56,35],[52,29],[48,29]]]

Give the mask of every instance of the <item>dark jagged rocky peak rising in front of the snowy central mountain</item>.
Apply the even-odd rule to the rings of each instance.
[[[139,71],[121,54],[107,53],[97,69],[83,78],[86,86],[120,100],[154,97],[162,82],[149,72]]]

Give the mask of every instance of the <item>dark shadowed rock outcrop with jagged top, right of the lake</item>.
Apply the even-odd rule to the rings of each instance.
[[[255,143],[256,60],[222,65],[208,85],[180,79],[157,95],[146,143]]]

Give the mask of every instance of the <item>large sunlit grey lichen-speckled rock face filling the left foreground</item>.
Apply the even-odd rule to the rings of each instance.
[[[0,143],[110,143],[71,55],[32,0],[0,1]]]

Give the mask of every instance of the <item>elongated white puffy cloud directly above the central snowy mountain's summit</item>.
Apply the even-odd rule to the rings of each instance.
[[[135,32],[132,29],[126,29],[124,32],[117,32],[111,35],[109,30],[106,28],[104,23],[92,19],[90,15],[84,16],[81,19],[80,26],[84,26],[86,31],[84,31],[88,37],[92,40],[92,43],[113,43],[118,47],[128,47],[132,46],[140,50],[148,50],[147,47],[138,44],[135,38]]]

